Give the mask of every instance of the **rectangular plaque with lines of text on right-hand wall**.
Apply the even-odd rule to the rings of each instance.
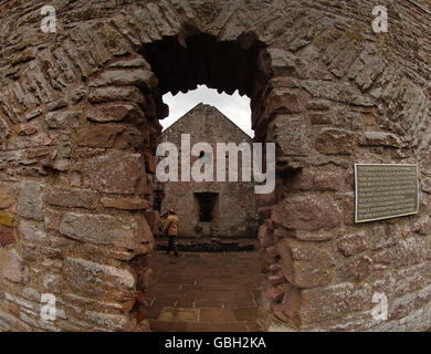
[[[355,222],[418,212],[417,165],[356,164],[355,189]]]

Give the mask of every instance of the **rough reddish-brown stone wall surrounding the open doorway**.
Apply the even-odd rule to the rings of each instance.
[[[161,95],[197,84],[250,96],[256,142],[277,145],[259,197],[263,327],[431,326],[425,13],[381,0],[376,34],[370,0],[53,0],[43,33],[43,4],[0,11],[2,331],[145,326]],[[359,163],[418,165],[419,214],[355,223]]]

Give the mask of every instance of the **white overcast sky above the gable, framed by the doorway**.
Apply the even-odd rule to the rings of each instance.
[[[164,95],[164,102],[169,106],[169,116],[160,121],[164,129],[172,125],[199,103],[206,103],[216,106],[246,134],[251,137],[254,136],[254,132],[251,128],[250,98],[245,95],[241,97],[238,91],[230,96],[225,93],[219,94],[217,90],[201,85],[186,94],[179,92],[176,96],[172,96],[168,93]]]

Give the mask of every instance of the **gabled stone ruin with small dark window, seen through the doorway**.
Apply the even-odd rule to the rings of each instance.
[[[239,183],[229,181],[228,173],[228,181],[216,180],[217,143],[234,143],[238,146],[246,143],[251,146],[252,138],[216,107],[204,104],[197,105],[167,128],[161,134],[160,143],[169,142],[180,148],[182,134],[190,134],[190,147],[201,142],[211,145],[211,152],[207,152],[207,155],[204,150],[200,152],[199,156],[192,157],[190,165],[201,157],[212,159],[214,181],[197,183],[192,178],[181,181],[180,178],[178,183],[158,184],[155,194],[162,196],[156,197],[160,214],[166,214],[169,208],[176,210],[181,220],[181,237],[256,237],[256,195],[253,181],[242,181],[241,153],[239,168],[235,169]],[[225,157],[228,170],[229,155]]]

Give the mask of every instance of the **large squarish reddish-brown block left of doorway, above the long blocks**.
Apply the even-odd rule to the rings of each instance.
[[[86,160],[84,184],[107,194],[143,194],[146,187],[144,159],[140,154],[111,152]]]

